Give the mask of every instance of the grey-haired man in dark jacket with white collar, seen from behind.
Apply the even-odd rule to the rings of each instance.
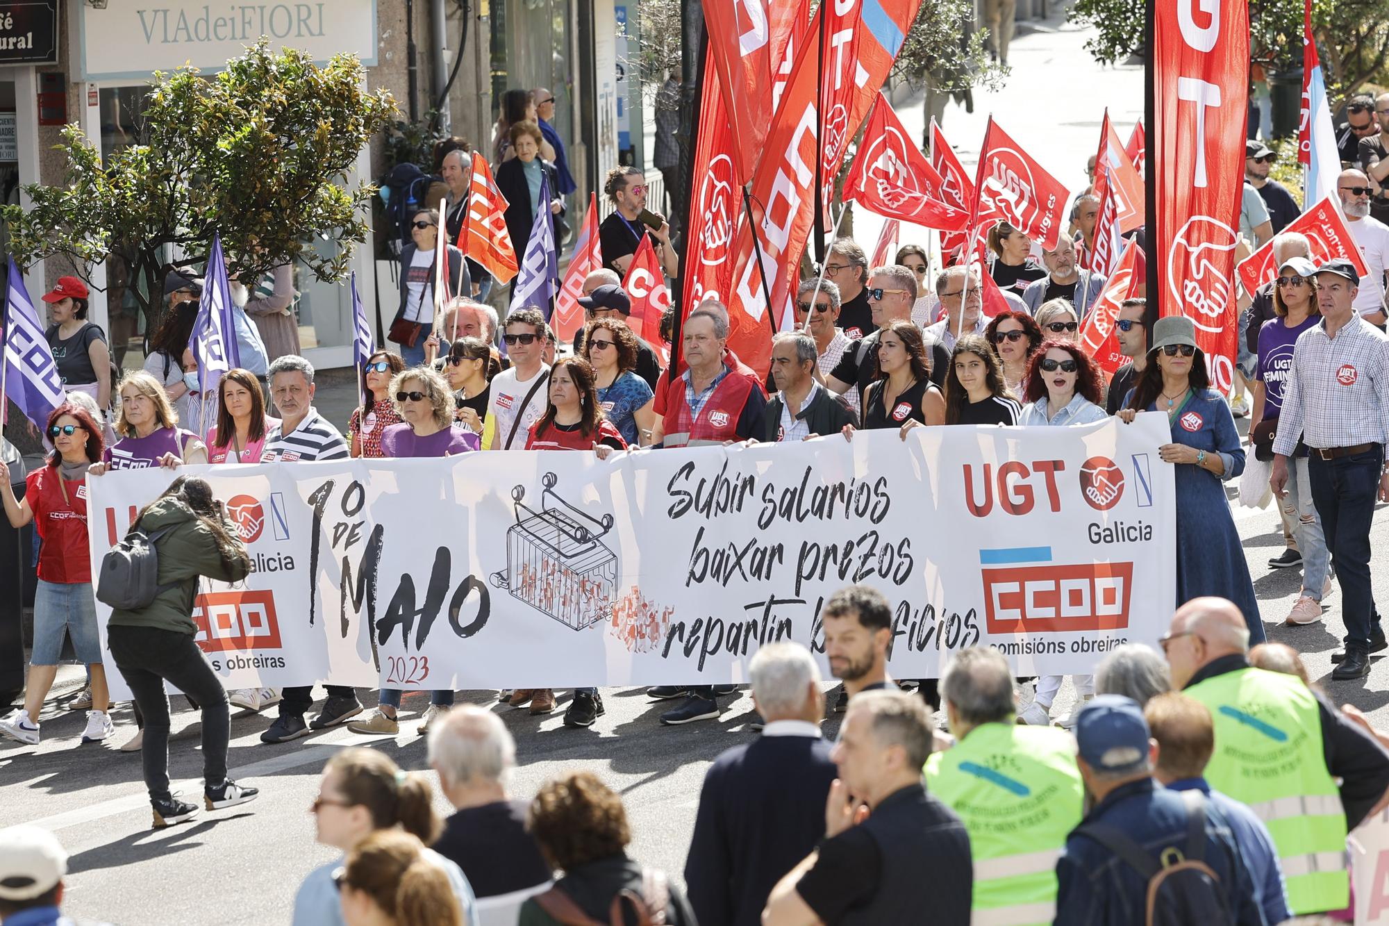
[[[820,736],[820,666],[801,644],[763,647],[749,670],[765,727],[704,774],[685,884],[701,923],[757,926],[776,879],[825,834],[835,780]]]

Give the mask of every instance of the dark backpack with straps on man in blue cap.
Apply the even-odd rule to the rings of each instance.
[[[1206,798],[1183,791],[1186,847],[1164,848],[1157,858],[1115,826],[1086,823],[1076,829],[1121,858],[1147,882],[1147,926],[1233,926],[1220,876],[1206,863]]]

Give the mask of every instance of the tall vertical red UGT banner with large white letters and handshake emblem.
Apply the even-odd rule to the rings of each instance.
[[[1193,17],[1190,0],[1154,4],[1157,170],[1149,182],[1157,216],[1149,241],[1167,247],[1158,291],[1147,298],[1158,299],[1160,314],[1185,314],[1196,324],[1211,385],[1225,392],[1239,338],[1235,246],[1245,185],[1249,7],[1210,4]]]

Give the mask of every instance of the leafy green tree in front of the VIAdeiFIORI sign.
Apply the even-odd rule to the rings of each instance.
[[[76,125],[63,129],[65,182],[28,186],[31,209],[3,209],[11,252],[21,264],[67,256],[82,275],[110,261],[146,325],[158,321],[165,274],[206,263],[214,232],[244,278],[300,260],[342,279],[374,193],[347,174],[394,111],[389,92],[363,90],[354,56],[318,67],[265,39],[211,78],[156,72],[133,142],[106,163]],[[329,256],[315,236],[335,245]]]

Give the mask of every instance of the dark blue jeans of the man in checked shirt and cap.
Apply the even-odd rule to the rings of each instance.
[[[1370,634],[1379,624],[1370,587],[1370,523],[1375,516],[1382,466],[1383,446],[1336,460],[1322,460],[1314,450],[1307,464],[1311,498],[1340,581],[1347,645],[1368,647]]]

